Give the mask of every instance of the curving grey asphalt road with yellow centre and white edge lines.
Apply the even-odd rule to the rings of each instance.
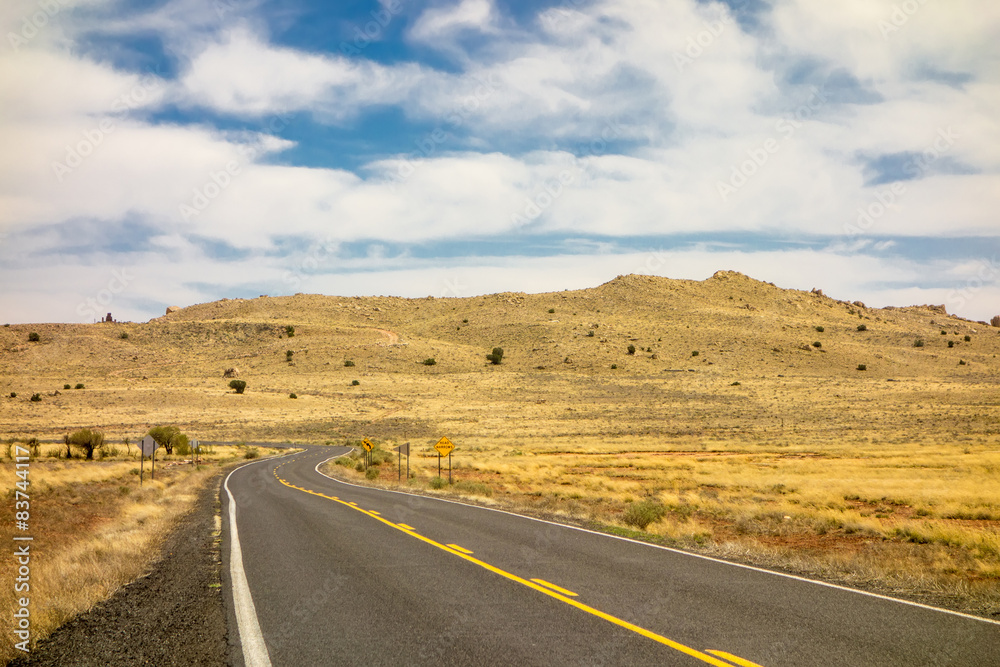
[[[995,622],[317,471],[346,451],[227,479],[234,664],[1000,665]]]

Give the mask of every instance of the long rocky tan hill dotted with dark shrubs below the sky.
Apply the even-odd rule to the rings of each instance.
[[[486,360],[494,346],[504,349],[499,366]],[[0,328],[0,429],[125,433],[167,421],[205,437],[326,441],[362,424],[388,437],[483,437],[502,413],[539,433],[562,433],[570,419],[569,432],[588,436],[736,428],[770,438],[784,437],[778,423],[815,428],[812,401],[844,411],[828,415],[833,426],[848,416],[905,425],[921,401],[950,392],[937,406],[947,419],[914,416],[919,432],[991,432],[996,408],[984,398],[998,352],[1000,329],[943,307],[867,308],[729,271],[545,294],[223,299],[141,324]],[[228,389],[227,369],[247,394]],[[86,389],[62,388],[77,383]],[[43,400],[29,402],[33,393]],[[471,426],[482,421],[495,423]]]

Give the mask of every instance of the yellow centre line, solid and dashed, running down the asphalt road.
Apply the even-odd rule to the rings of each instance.
[[[291,461],[288,461],[286,463],[291,463]],[[702,662],[708,663],[710,665],[715,665],[715,667],[733,667],[733,665],[739,665],[739,667],[761,667],[761,665],[758,665],[755,662],[751,662],[750,660],[746,660],[745,658],[741,658],[741,657],[733,655],[731,653],[726,653],[725,651],[706,650],[706,651],[702,652],[702,651],[699,651],[697,649],[693,649],[690,646],[686,646],[684,644],[681,644],[680,642],[674,641],[673,639],[669,639],[667,637],[664,637],[663,635],[656,634],[655,632],[653,632],[651,630],[647,630],[646,628],[643,628],[643,627],[640,627],[638,625],[635,625],[634,623],[629,623],[628,621],[626,621],[624,619],[621,619],[621,618],[618,618],[617,616],[612,616],[611,614],[607,614],[607,613],[601,611],[600,609],[594,609],[593,607],[591,607],[589,605],[586,605],[586,604],[584,604],[584,603],[582,603],[582,602],[580,602],[578,600],[574,600],[573,597],[576,597],[576,594],[572,593],[570,591],[567,591],[564,588],[560,588],[560,587],[555,586],[554,584],[550,584],[548,582],[542,582],[542,580],[540,580],[540,579],[533,579],[533,580],[525,579],[523,577],[517,576],[516,574],[514,574],[512,572],[507,572],[506,570],[502,570],[499,567],[496,567],[495,565],[490,565],[489,563],[487,563],[485,561],[482,561],[482,560],[479,560],[478,558],[475,558],[472,555],[473,554],[472,551],[469,551],[468,549],[460,547],[457,544],[441,544],[440,542],[432,540],[429,537],[425,537],[425,536],[421,535],[412,526],[408,526],[406,524],[393,523],[392,521],[389,521],[388,519],[383,518],[381,515],[379,515],[378,512],[374,512],[374,511],[371,511],[371,510],[366,510],[366,509],[362,509],[362,508],[358,507],[357,503],[348,502],[346,500],[341,500],[337,496],[328,496],[328,495],[326,495],[324,493],[319,493],[318,491],[313,491],[311,489],[305,489],[305,488],[303,488],[301,486],[296,486],[296,485],[294,485],[294,484],[292,484],[292,483],[290,483],[290,482],[282,479],[278,475],[278,468],[280,468],[282,465],[285,465],[285,464],[282,463],[281,465],[275,467],[275,469],[274,469],[274,477],[279,482],[281,482],[282,484],[284,484],[285,486],[287,486],[287,487],[289,487],[291,489],[295,489],[297,491],[302,491],[303,493],[308,493],[310,495],[318,496],[320,498],[326,498],[327,500],[332,500],[333,502],[340,503],[341,505],[343,505],[345,507],[349,507],[349,508],[351,508],[353,510],[357,510],[358,512],[361,512],[362,514],[366,514],[366,515],[370,516],[371,518],[375,519],[376,521],[381,521],[382,523],[384,523],[387,526],[391,526],[392,528],[395,528],[396,530],[398,530],[398,531],[400,531],[402,533],[406,533],[410,537],[415,537],[416,539],[418,539],[418,540],[420,540],[422,542],[425,542],[427,544],[430,544],[431,546],[437,547],[438,549],[440,549],[442,551],[450,553],[450,554],[452,554],[454,556],[458,556],[459,558],[463,558],[463,559],[469,561],[470,563],[475,563],[476,565],[478,565],[479,567],[481,567],[481,568],[483,568],[485,570],[489,570],[490,572],[493,572],[494,574],[498,574],[501,577],[504,577],[506,579],[510,579],[511,581],[516,581],[517,583],[521,584],[522,586],[527,586],[528,588],[536,590],[539,593],[544,593],[545,595],[548,595],[551,598],[555,598],[556,600],[559,600],[560,602],[564,602],[564,603],[568,604],[571,607],[576,607],[580,611],[585,611],[588,614],[591,614],[592,616],[596,616],[598,618],[604,619],[605,621],[608,621],[609,623],[614,623],[615,625],[621,626],[621,627],[623,627],[623,628],[625,628],[627,630],[631,630],[632,632],[634,632],[636,634],[639,634],[639,635],[642,635],[643,637],[646,637],[647,639],[652,639],[655,642],[659,642],[660,644],[664,644],[666,646],[669,646],[670,648],[674,649],[675,651],[680,651],[681,653],[689,655],[692,658],[697,658],[698,660],[701,660]],[[723,662],[723,660],[721,660],[720,658],[724,658],[725,660],[728,660],[728,662]]]

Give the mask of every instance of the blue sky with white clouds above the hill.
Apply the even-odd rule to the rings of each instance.
[[[1000,314],[993,0],[4,0],[0,320],[741,271]]]

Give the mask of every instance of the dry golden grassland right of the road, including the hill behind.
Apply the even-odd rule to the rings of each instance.
[[[628,534],[637,508],[660,508],[649,539],[995,614],[998,353],[1000,329],[943,308],[867,308],[732,272],[223,300],[144,324],[0,328],[0,437],[367,436],[411,442],[409,483],[424,488],[446,435],[458,483],[435,493]],[[377,483],[395,483],[380,468]]]

